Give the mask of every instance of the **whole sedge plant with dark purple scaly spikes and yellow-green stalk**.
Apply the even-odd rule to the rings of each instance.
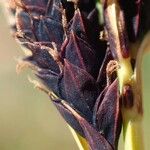
[[[7,0],[13,36],[82,150],[143,150],[148,0]]]

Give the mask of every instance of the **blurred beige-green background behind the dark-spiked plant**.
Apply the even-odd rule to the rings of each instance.
[[[48,96],[17,75],[15,58],[23,56],[11,37],[0,7],[0,150],[78,150],[64,120]],[[150,148],[150,55],[144,57],[144,139]],[[122,141],[119,150],[122,150]]]

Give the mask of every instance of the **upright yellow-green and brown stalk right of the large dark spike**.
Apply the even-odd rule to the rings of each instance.
[[[99,2],[101,1],[99,0]],[[127,104],[122,105],[124,149],[144,150],[141,87],[142,57],[137,54],[134,71],[130,60],[131,51],[133,51],[133,49],[131,49],[130,43],[124,36],[127,35],[123,14],[124,12],[121,10],[117,0],[108,0],[103,2],[104,20],[108,32],[108,38],[110,39],[110,49],[112,50],[112,53],[115,54],[115,59],[119,66],[117,75],[119,80],[120,96],[122,97],[121,100],[123,103]],[[138,51],[138,49],[136,49],[136,51]],[[126,86],[130,87],[130,91],[127,91],[124,95],[124,88]],[[124,100],[126,101],[124,102]]]

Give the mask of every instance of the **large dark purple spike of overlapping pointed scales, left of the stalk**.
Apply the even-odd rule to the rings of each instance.
[[[95,2],[15,0],[11,9],[15,36],[32,52],[24,61],[35,66],[36,75],[57,95],[52,102],[65,120],[92,150],[117,149],[118,83],[106,80],[113,58],[106,41],[99,39]]]

